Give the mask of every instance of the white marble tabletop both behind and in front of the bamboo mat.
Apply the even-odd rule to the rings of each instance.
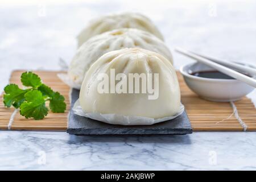
[[[0,90],[13,69],[59,69],[59,57],[71,60],[75,36],[85,23],[116,11],[150,16],[170,48],[255,64],[255,9],[255,1],[159,0],[146,6],[143,1],[5,2],[0,6]],[[176,53],[174,61],[176,68],[191,62]],[[249,97],[256,103],[255,91]],[[65,132],[0,131],[0,169],[255,170],[255,140],[253,132],[77,137]]]

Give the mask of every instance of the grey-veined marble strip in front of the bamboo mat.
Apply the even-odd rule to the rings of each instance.
[[[255,140],[254,133],[229,132],[88,137],[1,131],[0,169],[255,169]]]

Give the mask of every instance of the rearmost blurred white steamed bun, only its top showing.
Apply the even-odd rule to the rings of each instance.
[[[163,40],[158,28],[148,19],[139,13],[122,13],[102,16],[92,20],[77,36],[78,46],[90,39],[94,35],[118,28],[137,28],[154,34]]]

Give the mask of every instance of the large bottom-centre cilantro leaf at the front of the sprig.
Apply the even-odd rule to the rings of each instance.
[[[20,114],[26,118],[43,119],[48,114],[46,101],[39,90],[31,90],[25,95],[26,101],[20,105]]]

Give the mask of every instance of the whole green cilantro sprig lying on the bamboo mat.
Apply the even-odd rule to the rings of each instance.
[[[20,80],[26,89],[20,89],[16,84],[9,84],[5,87],[3,103],[6,107],[19,108],[21,115],[34,119],[43,119],[49,109],[53,113],[64,113],[65,98],[59,92],[54,92],[49,86],[43,84],[38,75],[24,72]],[[47,101],[49,101],[49,109],[46,106]]]

